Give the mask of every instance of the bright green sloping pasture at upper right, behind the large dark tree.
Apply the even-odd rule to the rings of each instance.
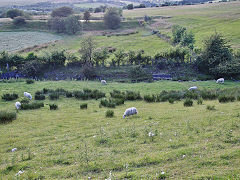
[[[124,17],[137,18],[148,16],[171,17],[169,24],[179,24],[191,30],[196,37],[197,46],[202,40],[214,33],[222,33],[234,48],[240,47],[240,1],[228,3],[201,4],[192,6],[172,6],[123,11]],[[163,33],[171,34],[169,24],[159,22],[158,28]]]

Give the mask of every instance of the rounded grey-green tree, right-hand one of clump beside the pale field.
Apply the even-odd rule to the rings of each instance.
[[[65,32],[67,34],[76,34],[81,29],[81,24],[76,16],[69,16],[64,19]]]

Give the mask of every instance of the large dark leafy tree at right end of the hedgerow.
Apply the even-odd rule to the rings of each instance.
[[[215,33],[204,41],[204,49],[196,60],[196,65],[200,71],[214,74],[218,66],[222,67],[233,60],[231,47],[226,39]]]

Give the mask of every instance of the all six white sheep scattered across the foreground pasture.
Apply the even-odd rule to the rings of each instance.
[[[219,78],[219,79],[216,81],[216,83],[221,83],[221,84],[223,84],[223,83],[224,83],[224,78]],[[107,81],[106,81],[106,80],[101,80],[101,84],[102,84],[102,85],[107,85]],[[197,90],[197,89],[198,89],[197,86],[192,86],[192,87],[190,87],[188,90],[189,90],[189,91],[192,91],[192,90]],[[30,93],[24,92],[23,95],[24,95],[26,98],[32,100],[32,95],[31,95]],[[15,107],[16,107],[17,110],[19,110],[19,109],[21,108],[21,103],[20,103],[20,102],[16,102],[16,103],[15,103]],[[138,114],[137,108],[135,108],[135,107],[128,108],[128,109],[125,110],[125,112],[124,112],[124,114],[123,114],[123,119],[125,119],[125,117],[132,116],[132,115],[134,115],[134,114]]]

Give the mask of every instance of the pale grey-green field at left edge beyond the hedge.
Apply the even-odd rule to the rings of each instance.
[[[0,32],[0,38],[0,52],[17,51],[62,39],[61,36],[43,32]]]

